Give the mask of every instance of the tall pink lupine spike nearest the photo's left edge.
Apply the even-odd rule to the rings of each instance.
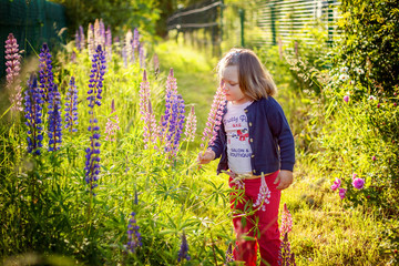
[[[10,102],[12,111],[22,111],[22,94],[21,86],[19,85],[19,73],[20,73],[20,60],[17,39],[10,33],[6,40],[6,79],[7,89],[10,91]]]

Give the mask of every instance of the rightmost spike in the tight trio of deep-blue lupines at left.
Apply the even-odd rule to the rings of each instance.
[[[49,152],[60,149],[62,142],[62,119],[61,119],[61,96],[58,86],[54,85],[51,93],[49,93]]]

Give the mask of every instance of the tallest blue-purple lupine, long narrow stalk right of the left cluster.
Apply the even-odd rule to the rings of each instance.
[[[93,193],[94,187],[98,186],[95,182],[99,180],[100,174],[100,126],[98,126],[98,120],[94,116],[94,106],[101,105],[101,92],[103,86],[103,76],[105,73],[105,57],[103,51],[101,50],[101,45],[98,47],[95,53],[93,54],[92,60],[92,70],[90,74],[90,83],[89,83],[89,96],[86,98],[89,101],[89,114],[91,115],[90,119],[90,126],[88,127],[89,132],[91,133],[90,136],[90,147],[85,150],[86,152],[86,162],[85,162],[85,182],[90,185],[90,192]]]

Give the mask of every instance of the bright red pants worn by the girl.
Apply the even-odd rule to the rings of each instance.
[[[278,208],[282,192],[276,190],[278,184],[273,184],[279,171],[265,176],[266,184],[270,191],[269,203],[265,204],[266,211],[258,209],[254,214],[246,215],[256,209],[253,204],[256,202],[260,187],[260,178],[244,180],[241,184],[232,183],[229,186],[235,188],[232,194],[233,224],[237,242],[233,252],[235,260],[245,262],[246,266],[255,266],[257,259],[257,244],[260,249],[260,265],[278,265],[278,253],[280,238],[278,229]],[[244,184],[244,188],[238,187]],[[245,239],[246,235],[255,239]]]

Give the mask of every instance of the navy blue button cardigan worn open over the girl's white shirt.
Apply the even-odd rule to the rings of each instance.
[[[227,106],[223,111],[223,117],[226,112]],[[295,164],[294,136],[278,102],[272,96],[263,98],[249,104],[244,112],[247,115],[249,127],[253,174],[260,175],[278,170],[293,171]],[[217,173],[228,170],[227,141],[223,123],[217,131],[214,144],[209,147],[215,152],[215,158],[222,156]]]

